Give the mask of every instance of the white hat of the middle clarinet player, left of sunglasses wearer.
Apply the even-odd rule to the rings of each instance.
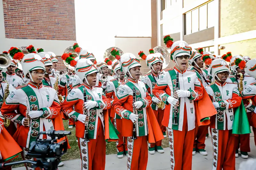
[[[135,55],[132,53],[124,53],[120,57],[121,71],[124,71],[124,74],[130,72],[129,70],[133,67],[140,66],[140,60],[138,60]]]

